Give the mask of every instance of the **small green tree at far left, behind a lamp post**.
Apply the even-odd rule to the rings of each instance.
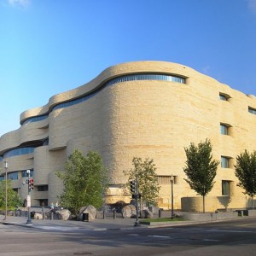
[[[7,208],[9,210],[20,207],[22,201],[20,195],[12,188],[11,180],[7,180]],[[0,183],[0,208],[5,209],[5,180]]]

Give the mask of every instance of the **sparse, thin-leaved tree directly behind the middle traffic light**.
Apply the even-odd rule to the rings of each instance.
[[[160,186],[156,175],[156,167],[154,160],[142,160],[134,157],[132,160],[133,168],[129,171],[124,171],[125,176],[128,176],[126,187],[130,187],[130,182],[137,178],[138,189],[141,195],[141,205],[157,205]]]

